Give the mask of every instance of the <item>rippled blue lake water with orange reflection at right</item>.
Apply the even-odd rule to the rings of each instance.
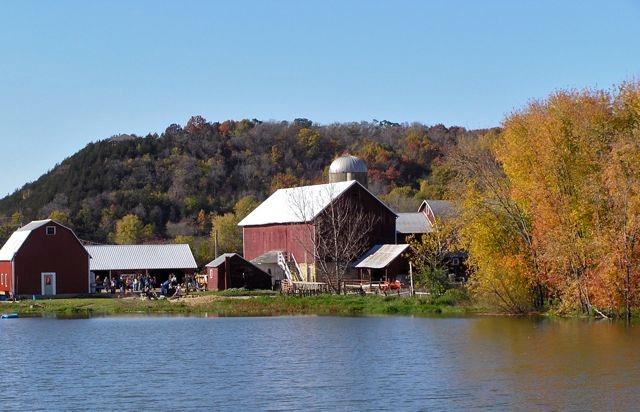
[[[523,318],[0,321],[3,410],[633,410],[640,327]]]

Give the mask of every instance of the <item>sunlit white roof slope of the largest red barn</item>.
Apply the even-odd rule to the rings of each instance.
[[[238,226],[310,222],[333,200],[356,184],[359,183],[350,180],[276,190],[242,219]]]

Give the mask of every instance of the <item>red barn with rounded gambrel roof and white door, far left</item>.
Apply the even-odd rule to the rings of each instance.
[[[89,259],[71,229],[52,220],[31,222],[15,231],[0,249],[0,292],[89,293]]]

